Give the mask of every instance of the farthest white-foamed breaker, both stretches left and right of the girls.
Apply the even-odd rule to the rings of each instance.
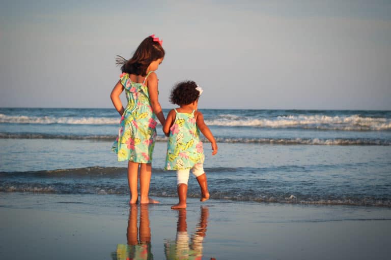
[[[0,114],[0,123],[18,124],[70,124],[70,125],[118,125],[118,117],[52,117]],[[243,116],[217,114],[206,117],[208,125],[252,126],[261,128],[302,128],[339,131],[388,131],[391,119],[356,115],[328,116],[285,115],[260,118],[259,115]]]

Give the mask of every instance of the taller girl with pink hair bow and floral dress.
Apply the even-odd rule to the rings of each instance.
[[[162,41],[151,35],[137,47],[129,60],[119,56],[122,74],[113,91],[111,101],[120,113],[121,122],[112,150],[118,161],[128,160],[130,204],[137,202],[138,168],[140,168],[140,203],[158,203],[148,197],[151,181],[152,153],[156,138],[156,117],[164,124],[158,100],[158,79],[155,71],[164,58]],[[122,106],[120,94],[125,89],[128,104]]]

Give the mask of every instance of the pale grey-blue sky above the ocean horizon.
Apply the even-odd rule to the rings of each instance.
[[[0,0],[0,107],[114,108],[116,55],[151,34],[163,108],[194,80],[199,108],[391,110],[387,0]]]

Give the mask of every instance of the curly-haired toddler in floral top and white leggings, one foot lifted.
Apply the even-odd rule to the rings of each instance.
[[[171,92],[170,102],[180,106],[169,112],[163,126],[164,134],[169,137],[164,169],[177,171],[179,203],[172,206],[172,209],[186,208],[190,169],[197,177],[201,188],[200,201],[209,199],[208,183],[203,168],[204,150],[200,141],[200,131],[211,142],[212,155],[217,153],[217,144],[204,122],[203,114],[197,111],[201,93],[201,87],[194,81],[180,82]]]

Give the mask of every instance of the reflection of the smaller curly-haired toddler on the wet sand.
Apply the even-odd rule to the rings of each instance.
[[[202,242],[206,235],[208,216],[208,207],[201,207],[200,221],[189,241],[186,209],[178,210],[177,238],[175,241],[166,241],[164,245],[166,259],[202,259]]]

